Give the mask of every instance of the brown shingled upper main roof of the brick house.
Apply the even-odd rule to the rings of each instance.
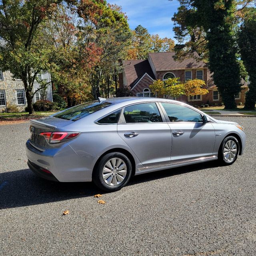
[[[151,58],[156,71],[176,70],[185,68],[207,68],[207,64],[202,60],[197,61],[195,58],[187,58],[183,61],[174,60],[175,52],[151,52],[148,54]],[[195,52],[195,57],[199,55]]]

